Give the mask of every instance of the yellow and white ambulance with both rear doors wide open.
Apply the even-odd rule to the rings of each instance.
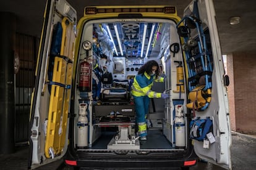
[[[147,140],[132,83],[155,60]],[[189,169],[200,159],[231,169],[231,129],[211,0],[175,6],[46,2],[30,110],[29,169],[64,159],[74,169]],[[158,78],[160,78],[160,76]]]

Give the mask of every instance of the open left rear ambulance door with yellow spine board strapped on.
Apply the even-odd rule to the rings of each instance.
[[[28,168],[59,160],[67,150],[77,14],[66,1],[46,1],[30,112]]]

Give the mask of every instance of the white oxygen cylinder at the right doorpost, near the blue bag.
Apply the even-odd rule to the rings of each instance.
[[[175,144],[176,147],[185,147],[186,146],[186,136],[185,136],[185,120],[183,113],[183,105],[175,105],[176,117],[174,120],[175,126]]]

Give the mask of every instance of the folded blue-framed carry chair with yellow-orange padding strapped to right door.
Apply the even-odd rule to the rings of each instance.
[[[213,60],[210,47],[208,47],[210,39],[205,36],[207,30],[203,28],[199,19],[197,1],[194,2],[193,14],[193,17],[184,16],[177,23],[177,30],[184,38],[182,49],[186,54],[186,67],[189,75],[187,83],[191,102],[187,104],[187,108],[203,111],[211,101]]]

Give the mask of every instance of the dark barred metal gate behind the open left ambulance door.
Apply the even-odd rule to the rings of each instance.
[[[15,143],[27,142],[29,135],[30,100],[35,85],[35,67],[40,39],[16,33],[15,55],[20,68],[15,75]]]

